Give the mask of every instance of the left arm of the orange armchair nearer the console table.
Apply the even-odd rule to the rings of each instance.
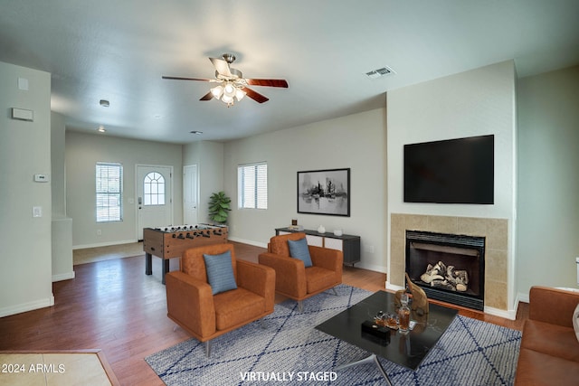
[[[275,270],[276,292],[296,298],[306,296],[306,268],[303,261],[270,252],[261,253],[258,259],[260,264]]]

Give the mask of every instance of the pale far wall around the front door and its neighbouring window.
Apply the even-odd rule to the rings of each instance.
[[[123,221],[95,219],[95,165],[123,165]],[[173,166],[173,221],[183,221],[182,146],[107,135],[66,132],[66,211],[74,224],[74,248],[137,240],[136,165]],[[97,230],[101,235],[97,236]]]

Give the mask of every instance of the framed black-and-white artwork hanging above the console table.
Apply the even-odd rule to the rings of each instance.
[[[298,172],[298,213],[350,216],[350,168]]]

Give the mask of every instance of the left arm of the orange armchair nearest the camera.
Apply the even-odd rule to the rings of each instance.
[[[167,315],[197,336],[215,333],[215,307],[211,286],[180,271],[168,272]]]

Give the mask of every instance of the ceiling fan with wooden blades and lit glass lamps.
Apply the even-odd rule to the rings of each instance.
[[[233,106],[235,100],[240,101],[246,95],[259,103],[267,102],[270,100],[266,96],[261,95],[259,92],[250,89],[248,86],[288,88],[288,82],[286,80],[243,78],[242,71],[233,69],[231,67],[231,64],[233,61],[235,61],[235,55],[232,53],[223,53],[222,58],[223,59],[209,58],[215,68],[214,79],[169,76],[163,76],[162,78],[168,80],[200,80],[218,83],[217,86],[210,89],[210,91],[199,100],[211,100],[215,98],[221,100],[227,105],[227,107]]]

